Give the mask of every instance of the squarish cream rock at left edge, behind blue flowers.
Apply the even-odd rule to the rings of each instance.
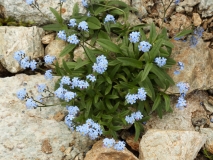
[[[11,73],[21,70],[14,59],[14,53],[23,50],[32,59],[43,57],[44,48],[41,37],[44,30],[39,27],[0,27],[0,62]]]

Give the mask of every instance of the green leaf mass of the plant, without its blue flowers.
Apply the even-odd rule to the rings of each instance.
[[[150,114],[156,112],[162,117],[165,111],[171,111],[170,97],[165,93],[174,81],[167,74],[167,69],[176,62],[170,57],[173,44],[167,36],[167,30],[163,28],[157,33],[156,26],[152,24],[140,24],[131,26],[127,18],[135,9],[121,1],[91,0],[87,13],[79,13],[78,4],[73,9],[70,18],[76,19],[76,23],[86,21],[88,32],[80,31],[77,27],[69,27],[61,15],[51,8],[57,19],[57,23],[43,26],[45,30],[65,31],[67,36],[75,34],[80,43],[67,43],[60,56],[70,55],[77,47],[83,47],[86,60],[78,59],[76,62],[65,62],[59,66],[56,63],[55,74],[69,76],[71,79],[78,77],[86,79],[93,74],[97,81],[90,83],[87,89],[74,88],[69,85],[64,88],[75,92],[77,98],[70,102],[62,101],[62,105],[76,105],[80,109],[79,115],[74,119],[76,124],[85,123],[88,118],[93,119],[102,126],[105,136],[117,138],[119,130],[129,125],[125,120],[132,112],[140,111],[143,114],[141,120],[134,123],[136,130],[135,139],[138,139],[143,130],[143,122],[148,121]],[[90,14],[88,16],[87,14]],[[123,18],[124,24],[104,23],[107,14],[115,19]],[[149,32],[144,27],[149,26]],[[146,41],[152,45],[148,52],[139,51],[139,42],[131,43],[129,34],[140,32],[140,41]],[[108,60],[108,68],[103,74],[92,70],[96,57],[104,55]],[[155,63],[156,57],[166,58],[166,64],[159,67]],[[57,89],[60,84],[57,82]],[[147,97],[144,101],[128,104],[125,97],[135,94],[139,88],[144,88]]]

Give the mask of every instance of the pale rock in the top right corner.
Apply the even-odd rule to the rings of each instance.
[[[199,9],[202,11],[202,17],[210,17],[213,15],[213,1],[200,0]]]

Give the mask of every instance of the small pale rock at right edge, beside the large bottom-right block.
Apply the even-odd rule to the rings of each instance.
[[[207,135],[205,148],[207,149],[207,151],[209,151],[213,154],[213,129],[212,128],[202,128],[200,132]]]

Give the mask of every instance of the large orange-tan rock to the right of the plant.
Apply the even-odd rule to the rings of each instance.
[[[212,73],[212,53],[208,47],[208,43],[204,43],[202,39],[198,39],[196,47],[191,47],[189,40],[187,42],[173,40],[175,48],[172,57],[176,62],[183,62],[185,67],[179,75],[174,75],[177,66],[173,66],[169,71],[169,75],[173,80],[178,82],[187,82],[190,85],[189,92],[201,89],[206,90],[213,85]],[[168,89],[170,93],[178,93],[178,88],[172,86]],[[188,92],[188,93],[189,93]]]

